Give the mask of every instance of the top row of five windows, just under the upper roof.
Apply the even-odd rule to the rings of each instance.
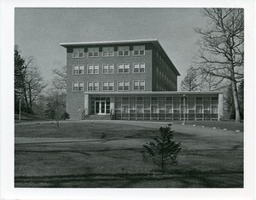
[[[130,46],[119,46],[118,47],[118,56],[129,56],[130,55]],[[133,55],[145,55],[145,45],[136,45],[132,47]],[[74,48],[73,49],[73,58],[84,58],[85,52],[84,48]],[[88,48],[88,57],[99,57],[100,49],[99,48]],[[114,48],[113,47],[102,47],[102,57],[113,57]]]

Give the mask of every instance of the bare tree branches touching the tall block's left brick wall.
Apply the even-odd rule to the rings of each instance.
[[[55,89],[66,91],[66,81],[67,81],[67,66],[62,66],[60,69],[52,70],[54,73],[53,85]]]

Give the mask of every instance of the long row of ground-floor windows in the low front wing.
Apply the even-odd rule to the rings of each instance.
[[[218,97],[116,97],[115,109],[124,107],[125,113],[150,112],[150,107],[153,113],[218,113]]]

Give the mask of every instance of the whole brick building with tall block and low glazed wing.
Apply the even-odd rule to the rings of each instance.
[[[179,72],[157,39],[61,43],[73,119],[219,120],[220,92],[177,92]]]

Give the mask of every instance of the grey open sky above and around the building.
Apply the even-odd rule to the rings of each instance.
[[[181,76],[197,53],[196,27],[206,26],[200,9],[15,9],[15,44],[21,56],[33,56],[44,80],[66,65],[64,42],[100,42],[157,38]]]

